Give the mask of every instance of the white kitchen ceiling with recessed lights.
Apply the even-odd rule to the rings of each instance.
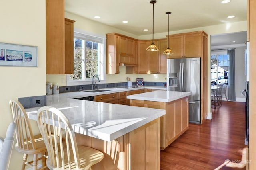
[[[247,20],[247,0],[231,0],[227,4],[221,4],[221,1],[157,0],[154,4],[154,33],[168,31],[167,11],[172,12],[170,31]],[[153,5],[150,0],[65,0],[65,11],[138,36],[152,34]],[[236,17],[227,18],[230,15]]]

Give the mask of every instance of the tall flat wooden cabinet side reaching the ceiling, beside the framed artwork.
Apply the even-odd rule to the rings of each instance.
[[[64,18],[64,0],[46,0],[46,74],[65,73]]]

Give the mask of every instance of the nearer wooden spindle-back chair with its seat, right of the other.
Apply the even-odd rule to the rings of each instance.
[[[51,106],[40,108],[37,120],[47,148],[49,158],[46,164],[50,170],[90,170],[92,165],[103,159],[102,152],[91,147],[77,145],[72,126],[58,109]],[[50,133],[54,135],[54,141],[49,140]],[[62,141],[62,139],[65,140]],[[54,148],[56,140],[60,141],[60,146]]]

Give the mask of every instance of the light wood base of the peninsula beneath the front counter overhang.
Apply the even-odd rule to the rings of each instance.
[[[103,141],[76,133],[78,145],[104,153],[92,170],[160,170],[160,120],[155,119],[116,140]]]

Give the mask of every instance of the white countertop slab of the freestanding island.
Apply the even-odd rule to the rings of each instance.
[[[174,100],[190,96],[191,92],[154,91],[126,96],[128,99],[148,100],[155,102],[172,102]]]

